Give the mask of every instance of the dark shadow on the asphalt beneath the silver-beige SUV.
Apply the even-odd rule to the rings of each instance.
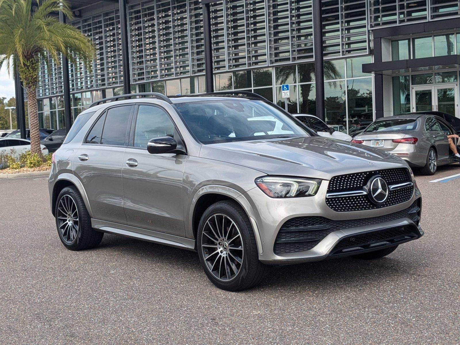
[[[198,254],[180,248],[105,234],[97,250],[116,253],[121,255],[123,260],[141,258],[144,264],[151,265],[152,269],[162,265],[163,269],[171,271],[179,269],[200,274],[202,272]],[[258,293],[266,289],[287,288],[301,292],[305,290],[324,291],[325,288],[333,290],[341,287],[360,288],[389,277],[392,279],[398,276],[407,278],[410,271],[413,271],[411,265],[412,262],[406,261],[402,264],[400,257],[390,254],[378,260],[358,260],[345,257],[297,265],[274,266],[262,284],[247,291]],[[202,279],[210,288],[214,288],[204,272]]]

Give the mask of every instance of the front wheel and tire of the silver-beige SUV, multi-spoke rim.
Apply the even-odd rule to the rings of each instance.
[[[269,270],[259,261],[249,218],[235,201],[219,201],[205,211],[196,247],[207,277],[223,290],[252,288]]]

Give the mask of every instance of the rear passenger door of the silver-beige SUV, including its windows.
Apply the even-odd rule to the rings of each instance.
[[[95,219],[126,224],[121,167],[133,109],[133,105],[108,108],[75,150],[74,174],[85,187]]]

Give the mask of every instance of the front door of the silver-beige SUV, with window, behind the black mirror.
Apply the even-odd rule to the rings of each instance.
[[[127,224],[185,236],[183,176],[185,155],[152,155],[152,138],[179,135],[167,111],[153,104],[139,104],[123,159],[123,187]]]

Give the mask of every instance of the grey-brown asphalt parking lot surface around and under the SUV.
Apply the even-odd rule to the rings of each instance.
[[[215,288],[196,253],[114,235],[71,252],[46,178],[0,180],[2,344],[459,344],[460,173],[417,176],[426,235],[377,261],[274,268]]]

